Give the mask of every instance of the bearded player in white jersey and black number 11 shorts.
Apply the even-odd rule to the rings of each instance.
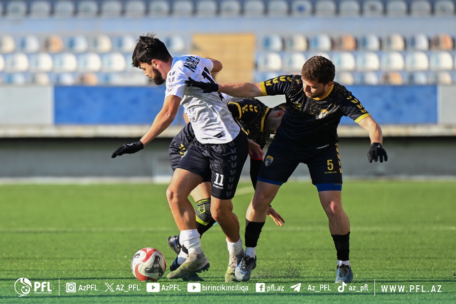
[[[174,120],[181,104],[192,123],[197,141],[183,157],[166,191],[174,221],[180,231],[180,243],[188,249],[186,261],[168,274],[177,279],[209,269],[196,229],[195,210],[188,200],[190,192],[201,182],[211,181],[211,213],[226,236],[230,260],[242,258],[244,250],[239,235],[238,217],[232,212],[242,167],[248,156],[248,142],[236,124],[219,93],[205,94],[188,87],[189,78],[215,83],[210,72],[218,72],[222,64],[214,59],[194,55],[172,57],[166,46],[153,33],[139,36],[133,51],[133,66],[161,85],[166,82],[163,108],[142,138],[119,147],[112,158],[143,149]]]

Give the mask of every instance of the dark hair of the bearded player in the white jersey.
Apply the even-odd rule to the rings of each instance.
[[[165,44],[154,33],[139,36],[131,57],[134,67],[139,67],[141,63],[150,64],[153,59],[168,62],[171,58]]]

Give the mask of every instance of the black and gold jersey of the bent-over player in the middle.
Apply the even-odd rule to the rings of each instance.
[[[264,121],[268,118],[271,108],[256,98],[232,97],[226,102],[233,118],[247,137],[264,148],[271,136],[270,133],[263,132]]]

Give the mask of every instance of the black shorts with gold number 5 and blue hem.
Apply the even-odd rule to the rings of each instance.
[[[282,185],[299,163],[306,164],[318,191],[342,189],[342,168],[337,143],[320,148],[297,149],[273,140],[264,156],[258,180]]]

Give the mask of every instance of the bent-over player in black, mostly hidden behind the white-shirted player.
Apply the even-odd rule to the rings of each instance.
[[[230,98],[226,102],[233,118],[247,134],[250,148],[250,178],[255,188],[258,171],[263,160],[263,148],[268,143],[271,134],[274,134],[279,127],[286,109],[286,104],[283,103],[270,108],[256,98],[236,97]],[[194,140],[195,134],[193,133],[191,124],[184,126],[173,138],[169,146],[169,160],[173,171],[179,164],[180,159],[185,156],[186,151],[192,147]],[[197,209],[195,210],[197,230],[200,235],[203,235],[216,222],[212,218],[210,211],[210,183],[203,182],[198,185],[191,192],[191,196],[197,205]],[[277,225],[282,226],[282,222],[285,222],[280,214],[271,206],[269,206],[267,213],[274,219]],[[170,267],[170,270],[174,271],[185,261],[187,252],[186,248],[179,243],[178,235],[169,237],[168,244],[178,254]],[[234,271],[238,262],[237,260],[231,261],[225,273],[225,282],[237,281],[234,277]],[[185,281],[202,280],[197,274],[191,274],[182,279]]]

